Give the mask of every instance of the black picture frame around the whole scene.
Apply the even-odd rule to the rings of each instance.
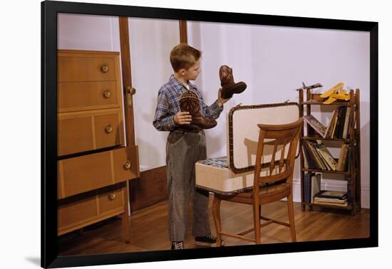
[[[276,243],[259,246],[195,248],[182,251],[148,251],[100,255],[58,256],[56,250],[56,51],[57,14],[95,14],[136,16],[268,26],[326,28],[370,33],[370,236],[333,241]],[[217,11],[163,9],[76,2],[41,2],[41,266],[59,268],[84,265],[140,263],[160,260],[213,258],[267,253],[291,253],[314,250],[368,248],[378,246],[378,23],[336,19],[312,19],[292,16],[237,14]]]

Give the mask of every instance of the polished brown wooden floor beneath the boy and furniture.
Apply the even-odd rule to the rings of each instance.
[[[210,196],[210,205],[212,196]],[[211,212],[211,211],[210,211]],[[287,206],[278,201],[262,207],[262,215],[287,221]],[[351,216],[346,211],[314,208],[301,211],[300,203],[294,203],[297,241],[323,241],[331,239],[366,238],[369,236],[369,210]],[[223,231],[243,231],[252,227],[252,206],[222,201],[221,218]],[[210,214],[212,233],[215,226]],[[190,233],[189,233],[190,234]],[[248,234],[253,237],[253,233]],[[125,253],[147,250],[170,249],[167,236],[167,202],[163,201],[130,216],[130,243],[122,237],[121,220],[110,218],[58,237],[58,255]],[[223,237],[226,246],[251,244],[235,238]],[[289,228],[271,224],[262,228],[262,243],[290,242]],[[185,241],[185,248],[196,248],[192,236]]]

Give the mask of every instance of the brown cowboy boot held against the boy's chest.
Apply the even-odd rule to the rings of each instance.
[[[180,97],[181,111],[189,112],[192,116],[191,124],[202,127],[202,129],[210,129],[217,126],[217,121],[200,114],[199,98],[192,90],[187,90]]]

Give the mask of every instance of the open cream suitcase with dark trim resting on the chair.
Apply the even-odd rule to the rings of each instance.
[[[199,161],[195,164],[196,186],[215,194],[232,195],[252,189],[257,153],[257,124],[284,125],[299,119],[299,105],[284,102],[267,105],[238,105],[227,112],[227,156]],[[264,156],[269,164],[274,145]],[[268,150],[267,148],[265,150]],[[297,147],[296,157],[299,156]],[[278,149],[275,156],[280,156]],[[289,150],[285,149],[285,154]],[[268,167],[262,174],[267,175]]]

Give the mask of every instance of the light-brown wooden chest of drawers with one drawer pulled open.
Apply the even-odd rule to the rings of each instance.
[[[57,72],[58,235],[118,214],[129,226],[125,181],[140,172],[138,147],[125,147],[119,53],[58,50]]]

